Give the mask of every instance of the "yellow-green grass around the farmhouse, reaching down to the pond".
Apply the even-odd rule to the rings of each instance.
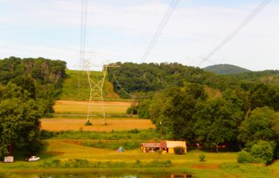
[[[52,171],[52,169],[43,169],[46,161],[67,161],[71,159],[86,159],[96,162],[102,161],[107,163],[135,163],[135,161],[171,161],[170,168],[126,168],[131,172],[188,172],[194,177],[278,177],[277,163],[269,167],[256,164],[238,164],[236,163],[236,153],[204,153],[206,161],[199,162],[199,155],[202,151],[194,150],[185,155],[175,154],[144,154],[140,149],[134,149],[123,153],[116,150],[96,149],[85,147],[75,142],[65,142],[63,140],[44,140],[45,151],[39,156],[42,161],[36,163],[27,163],[25,161],[16,161],[13,164],[0,163],[0,172],[7,172],[20,169],[32,171]],[[274,168],[275,167],[275,168]],[[88,172],[123,172],[123,168],[94,168],[82,169]],[[57,169],[54,169],[57,171]],[[75,169],[67,169],[67,171],[75,171]]]

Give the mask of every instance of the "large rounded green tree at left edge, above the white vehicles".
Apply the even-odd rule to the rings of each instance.
[[[38,140],[41,114],[31,94],[15,84],[0,89],[0,156]]]

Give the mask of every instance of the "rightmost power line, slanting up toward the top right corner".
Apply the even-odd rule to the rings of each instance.
[[[227,43],[229,43],[229,40],[232,40],[232,38],[234,38],[234,36],[236,36],[236,34],[239,33],[239,31],[241,31],[241,29],[243,29],[244,27],[246,27],[246,25],[270,2],[271,0],[264,0],[262,1],[262,3],[259,4],[259,6],[257,6],[257,8],[255,8],[255,10],[252,11],[252,13],[250,13],[250,15],[248,15],[248,17],[246,17],[245,20],[243,20],[243,22],[241,22],[241,24],[239,24],[224,40],[222,40],[216,47],[213,48],[213,50],[211,52],[209,52],[209,54],[206,55],[206,57],[204,57],[204,59],[202,59],[202,61],[199,62],[199,64],[197,64],[197,66],[201,66],[205,61],[208,61],[214,54],[216,54],[216,52],[218,52],[224,45],[226,45]]]

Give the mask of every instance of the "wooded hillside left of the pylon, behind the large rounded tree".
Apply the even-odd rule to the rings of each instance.
[[[9,57],[0,60],[0,83],[3,87],[16,84],[22,93],[27,91],[45,115],[53,112],[54,101],[61,94],[65,70],[65,61]]]

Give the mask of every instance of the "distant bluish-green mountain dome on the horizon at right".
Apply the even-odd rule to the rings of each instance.
[[[239,66],[234,66],[231,64],[217,64],[213,66],[207,66],[206,68],[203,69],[204,71],[209,71],[211,73],[217,73],[223,75],[251,72],[246,68],[241,68]]]

